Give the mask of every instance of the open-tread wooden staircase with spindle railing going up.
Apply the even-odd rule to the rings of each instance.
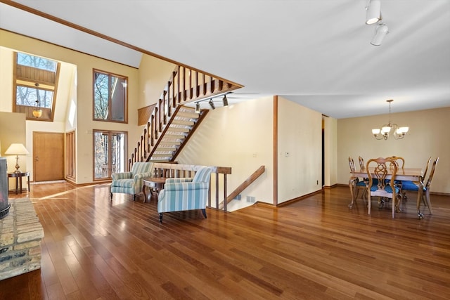
[[[176,66],[131,153],[129,170],[134,162],[173,162],[209,112],[195,112],[195,108],[186,104],[241,87],[211,74]]]

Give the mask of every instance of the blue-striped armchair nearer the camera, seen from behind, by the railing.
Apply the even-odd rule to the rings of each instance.
[[[211,167],[201,167],[193,178],[167,178],[158,195],[158,213],[201,209],[206,219]]]

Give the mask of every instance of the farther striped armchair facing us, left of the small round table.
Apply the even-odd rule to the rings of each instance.
[[[113,193],[131,194],[133,200],[136,200],[136,194],[142,191],[142,179],[152,176],[152,167],[153,162],[135,162],[131,172],[113,174],[110,188],[111,200],[113,200]]]

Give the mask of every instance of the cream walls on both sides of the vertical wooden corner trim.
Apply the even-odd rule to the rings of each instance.
[[[251,205],[246,201],[248,196],[273,204],[273,114],[273,97],[211,110],[176,160],[231,167],[228,193],[264,165],[264,174],[228,209]],[[278,114],[278,203],[282,203],[321,189],[321,114],[281,97]]]

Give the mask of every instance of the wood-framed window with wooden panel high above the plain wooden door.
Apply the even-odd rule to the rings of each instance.
[[[14,67],[13,112],[25,112],[27,119],[53,120],[59,63],[15,52]]]

